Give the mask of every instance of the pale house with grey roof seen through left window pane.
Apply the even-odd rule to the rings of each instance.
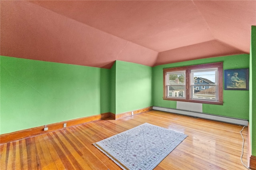
[[[169,80],[169,96],[171,97],[184,97],[184,83],[179,79]]]

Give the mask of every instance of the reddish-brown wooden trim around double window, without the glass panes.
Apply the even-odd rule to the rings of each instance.
[[[207,69],[218,67],[218,101],[202,101],[190,99],[190,70],[192,69]],[[185,99],[169,98],[166,97],[166,73],[172,71],[186,71],[186,97]],[[206,103],[213,105],[223,105],[223,62],[218,63],[206,63],[200,65],[189,65],[184,67],[172,67],[163,69],[163,99],[170,101],[185,101],[193,103]]]

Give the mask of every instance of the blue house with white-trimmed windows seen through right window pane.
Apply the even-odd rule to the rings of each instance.
[[[214,84],[214,82],[205,78],[195,77],[194,87],[193,87],[194,93],[211,88],[212,87],[211,84]]]

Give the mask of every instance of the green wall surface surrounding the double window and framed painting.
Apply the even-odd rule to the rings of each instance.
[[[223,69],[249,68],[248,54],[197,59],[158,65],[153,68],[153,105],[176,109],[176,101],[163,100],[163,68],[180,67],[223,61]],[[224,89],[224,86],[223,86]],[[203,113],[249,119],[249,91],[223,90],[223,105],[203,104]],[[186,108],[184,108],[186,110]]]

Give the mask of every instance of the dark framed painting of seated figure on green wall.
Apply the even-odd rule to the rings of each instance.
[[[249,69],[224,70],[225,90],[249,90]]]

